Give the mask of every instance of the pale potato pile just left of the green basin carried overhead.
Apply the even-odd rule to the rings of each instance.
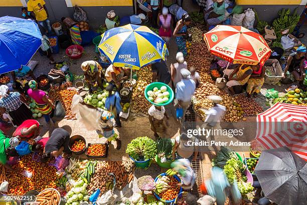
[[[151,82],[152,72],[150,66],[145,66],[137,71],[136,86],[132,90],[133,109],[137,112],[147,113],[151,104],[144,95],[145,87]]]

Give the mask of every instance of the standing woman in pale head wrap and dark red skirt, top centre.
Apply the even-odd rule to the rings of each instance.
[[[159,15],[158,25],[160,25],[159,36],[169,45],[169,41],[172,37],[172,15],[169,14],[168,8],[162,9],[162,14]]]

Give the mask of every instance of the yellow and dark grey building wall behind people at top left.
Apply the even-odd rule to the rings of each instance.
[[[4,3],[5,1],[8,1],[6,2],[7,4]],[[22,18],[22,3],[20,3],[20,0],[0,0],[0,2],[0,17],[13,16]],[[74,14],[74,9],[67,6],[67,0],[45,0],[45,2],[51,22],[60,21],[62,17],[72,17]],[[114,10],[119,17],[133,15],[134,11],[132,0],[69,0],[69,2],[72,3],[72,6],[76,3],[82,5],[81,7],[87,14],[91,28],[98,28],[102,25],[107,12],[110,10]],[[121,4],[116,3],[116,5],[130,6],[104,6],[110,5],[110,3],[115,4],[115,2],[121,2]]]

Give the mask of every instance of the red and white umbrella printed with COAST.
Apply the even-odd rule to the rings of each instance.
[[[217,25],[204,34],[204,40],[213,55],[234,64],[263,65],[271,55],[261,35],[241,26]]]

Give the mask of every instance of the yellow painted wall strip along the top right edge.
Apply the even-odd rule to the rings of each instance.
[[[299,5],[301,0],[236,0],[237,5]]]

